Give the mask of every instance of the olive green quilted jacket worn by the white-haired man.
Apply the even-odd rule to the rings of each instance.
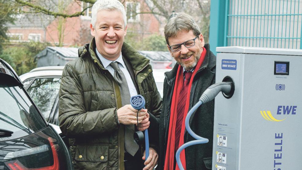
[[[123,170],[124,126],[117,117],[117,109],[122,106],[120,91],[94,49],[95,39],[79,48],[79,58],[64,68],[59,96],[60,128],[70,138],[75,169]],[[158,138],[155,116],[159,118],[162,102],[149,60],[126,43],[122,55],[129,61],[138,93],[145,98],[145,107],[151,113],[149,136]]]

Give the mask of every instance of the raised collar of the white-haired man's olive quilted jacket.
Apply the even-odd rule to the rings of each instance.
[[[79,57],[91,57],[91,60],[97,62],[100,65],[101,69],[104,70],[105,68],[103,67],[103,64],[99,61],[99,58],[95,54],[95,47],[95,38],[93,38],[90,44],[85,44],[84,46],[79,48]],[[134,48],[132,48],[125,42],[122,46],[122,56],[124,57],[124,59],[129,61],[135,71],[142,70],[146,65],[150,63],[149,59],[147,59],[145,56],[142,56],[139,52],[137,52]]]

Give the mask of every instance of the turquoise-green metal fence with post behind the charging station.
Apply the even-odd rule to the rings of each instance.
[[[301,23],[302,0],[212,0],[210,43],[302,49]],[[220,34],[223,29],[223,37],[214,35],[215,27]]]

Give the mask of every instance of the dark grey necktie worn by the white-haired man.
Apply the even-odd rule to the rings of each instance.
[[[110,66],[114,69],[114,79],[118,83],[121,93],[122,106],[130,104],[130,92],[126,77],[122,70],[118,67],[118,62],[110,63]],[[125,150],[132,156],[138,150],[138,145],[133,139],[134,125],[125,125]]]

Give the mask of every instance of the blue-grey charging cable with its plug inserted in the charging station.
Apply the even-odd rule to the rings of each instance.
[[[177,165],[179,167],[180,170],[184,170],[184,167],[181,164],[180,161],[180,152],[187,148],[188,146],[191,145],[196,145],[196,144],[203,144],[203,143],[207,143],[209,142],[209,139],[207,138],[203,138],[200,137],[198,135],[196,135],[196,133],[194,133],[192,131],[192,129],[189,126],[189,120],[191,115],[195,112],[195,110],[203,103],[209,102],[211,100],[213,100],[219,92],[223,92],[227,95],[230,95],[229,93],[234,93],[234,83],[233,82],[221,82],[221,83],[216,83],[211,85],[210,87],[207,88],[207,90],[205,90],[203,92],[203,94],[201,95],[201,97],[199,98],[199,101],[192,107],[192,109],[188,112],[186,120],[185,120],[185,125],[186,125],[186,129],[188,131],[188,133],[194,137],[196,140],[194,141],[189,141],[187,143],[185,143],[184,145],[181,145],[177,151],[176,151],[176,162]],[[231,94],[233,95],[233,94]]]

